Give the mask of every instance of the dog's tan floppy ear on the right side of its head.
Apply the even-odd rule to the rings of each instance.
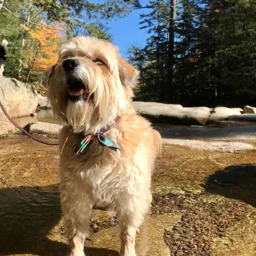
[[[138,70],[131,66],[126,59],[118,58],[119,76],[123,86],[134,88],[138,82]]]

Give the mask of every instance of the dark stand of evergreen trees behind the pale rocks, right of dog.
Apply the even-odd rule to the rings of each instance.
[[[185,106],[253,105],[256,2],[180,0],[169,22],[173,3],[150,2],[152,12],[142,15],[150,34],[145,49],[137,50],[144,54],[143,95]],[[166,6],[161,26],[159,5]]]

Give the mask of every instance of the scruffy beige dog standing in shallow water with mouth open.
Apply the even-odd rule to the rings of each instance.
[[[65,122],[60,135],[61,202],[69,256],[84,255],[93,206],[111,206],[121,255],[135,256],[135,234],[150,208],[150,179],[161,137],[131,106],[138,71],[116,47],[79,37],[62,46],[48,97]]]

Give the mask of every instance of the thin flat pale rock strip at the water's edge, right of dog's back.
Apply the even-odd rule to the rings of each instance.
[[[227,153],[235,153],[245,150],[254,150],[255,147],[242,142],[205,142],[197,140],[186,140],[186,139],[175,139],[175,138],[164,138],[162,140],[167,144],[174,144],[180,146],[187,146],[198,150],[211,150]]]

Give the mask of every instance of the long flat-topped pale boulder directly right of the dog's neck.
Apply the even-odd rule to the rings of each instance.
[[[175,104],[156,102],[133,102],[135,110],[150,122],[176,125],[206,125],[210,117],[210,108],[182,107]]]

